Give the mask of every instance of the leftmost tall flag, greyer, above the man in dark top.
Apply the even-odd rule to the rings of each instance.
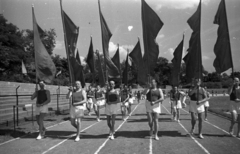
[[[35,18],[34,7],[32,7],[32,16],[36,76],[39,80],[51,83],[56,73],[56,67],[39,36],[39,26]]]

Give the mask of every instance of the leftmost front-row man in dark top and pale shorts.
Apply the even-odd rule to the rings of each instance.
[[[35,89],[35,92],[31,96],[31,100],[34,98],[37,98],[36,100],[36,121],[39,126],[39,135],[36,138],[37,140],[40,140],[44,138],[46,128],[44,127],[44,117],[48,113],[48,104],[51,102],[50,97],[50,91],[45,89],[45,83],[44,81],[39,82],[40,90],[37,88]]]

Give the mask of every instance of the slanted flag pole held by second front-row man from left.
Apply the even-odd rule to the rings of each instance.
[[[60,0],[60,8],[61,8],[61,17],[62,17],[62,24],[63,24],[64,42],[65,42],[65,48],[66,48],[66,52],[67,52],[69,78],[70,78],[70,84],[71,84],[71,86],[73,86],[72,72],[71,72],[71,67],[70,67],[71,64],[70,64],[70,59],[69,59],[70,57],[69,57],[69,50],[68,50],[67,37],[66,37],[66,29],[65,29],[64,18],[63,18],[62,0]]]

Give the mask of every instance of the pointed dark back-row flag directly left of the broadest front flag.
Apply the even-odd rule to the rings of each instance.
[[[129,54],[132,60],[132,65],[136,66],[137,69],[137,82],[139,84],[145,84],[147,81],[147,70],[144,66],[140,40],[138,39],[137,44],[133,48],[132,52]]]

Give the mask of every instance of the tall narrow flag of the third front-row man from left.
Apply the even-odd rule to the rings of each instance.
[[[106,79],[108,77],[115,78],[119,76],[119,71],[117,66],[114,65],[112,60],[110,59],[109,52],[108,52],[108,44],[109,40],[112,37],[112,33],[110,32],[107,23],[102,15],[100,2],[98,0],[98,6],[99,6],[99,15],[100,15],[100,25],[101,25],[101,32],[102,32],[102,48],[103,48],[103,55],[104,60],[106,63],[105,69],[107,69],[108,76],[106,76]],[[106,71],[106,70],[105,70]]]

